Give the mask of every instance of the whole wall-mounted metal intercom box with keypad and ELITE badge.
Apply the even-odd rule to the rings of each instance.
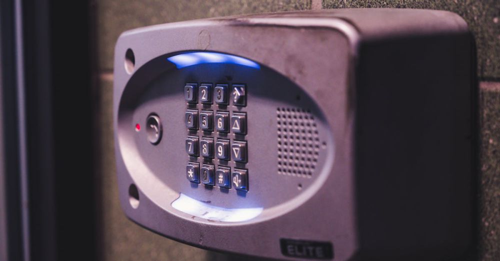
[[[471,36],[456,14],[342,9],[126,31],[113,127],[125,214],[290,260],[474,249]]]

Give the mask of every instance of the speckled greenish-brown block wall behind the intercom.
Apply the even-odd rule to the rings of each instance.
[[[113,48],[127,29],[205,17],[320,8],[396,7],[450,10],[469,24],[480,87],[479,259],[500,260],[500,1],[498,0],[100,0],[91,2],[96,66],[94,115],[98,241],[102,260],[232,260],[184,245],[129,221],[120,209],[112,138]],[[250,258],[243,258],[250,259]]]

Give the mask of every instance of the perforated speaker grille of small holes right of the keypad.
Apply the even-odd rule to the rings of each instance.
[[[311,177],[319,154],[314,116],[303,108],[276,108],[278,174]]]

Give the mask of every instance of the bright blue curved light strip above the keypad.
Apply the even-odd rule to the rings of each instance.
[[[177,69],[203,63],[228,63],[260,69],[260,65],[252,60],[219,52],[186,52],[170,56],[166,59],[175,64]]]

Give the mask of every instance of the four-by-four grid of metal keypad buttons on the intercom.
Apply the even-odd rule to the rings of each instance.
[[[184,85],[187,180],[248,191],[247,114],[241,111],[246,96],[244,84]],[[231,161],[237,167],[229,166]]]

